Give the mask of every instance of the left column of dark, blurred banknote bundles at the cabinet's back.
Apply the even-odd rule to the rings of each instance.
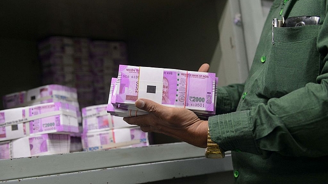
[[[93,76],[89,63],[90,40],[53,36],[38,43],[42,83],[74,87],[80,106],[93,104]]]

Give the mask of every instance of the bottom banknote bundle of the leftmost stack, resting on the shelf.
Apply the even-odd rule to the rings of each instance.
[[[41,134],[0,142],[0,159],[69,153],[68,134]]]

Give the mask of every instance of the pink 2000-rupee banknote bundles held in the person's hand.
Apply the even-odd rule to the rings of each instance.
[[[147,114],[134,105],[146,98],[208,118],[215,114],[217,84],[215,73],[119,65],[118,77],[111,80],[107,112],[119,117]]]

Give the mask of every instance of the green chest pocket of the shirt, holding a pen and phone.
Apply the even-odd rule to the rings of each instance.
[[[320,70],[317,38],[321,25],[273,28],[273,40],[264,94],[279,98],[315,82]]]

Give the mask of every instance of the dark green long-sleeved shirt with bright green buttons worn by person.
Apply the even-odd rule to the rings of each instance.
[[[248,79],[218,88],[210,134],[232,151],[236,183],[328,183],[327,11],[326,0],[274,1]],[[282,16],[321,19],[272,28]]]

